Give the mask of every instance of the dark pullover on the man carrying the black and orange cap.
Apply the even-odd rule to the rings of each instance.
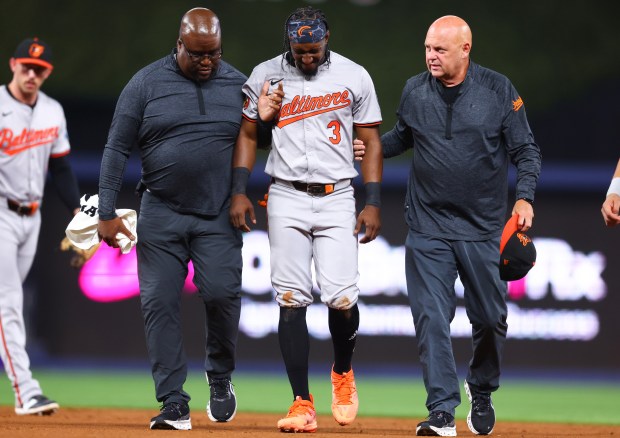
[[[523,101],[505,76],[473,62],[452,104],[429,72],[410,78],[383,154],[413,148],[407,224],[453,240],[486,240],[505,223],[508,164],[517,168],[516,196],[534,199],[541,154]]]

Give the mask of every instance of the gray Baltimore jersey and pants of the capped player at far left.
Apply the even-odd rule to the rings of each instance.
[[[12,387],[15,405],[41,394],[32,378],[25,350],[22,283],[32,265],[41,216],[21,216],[8,208],[8,199],[40,204],[50,157],[69,153],[61,105],[39,91],[30,107],[0,87],[0,358]]]

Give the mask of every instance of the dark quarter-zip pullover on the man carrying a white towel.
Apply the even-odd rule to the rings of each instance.
[[[135,145],[142,181],[171,209],[212,216],[225,208],[246,79],[222,61],[208,81],[196,82],[182,74],[174,53],[136,73],[119,97],[103,153],[100,218],[115,217]]]

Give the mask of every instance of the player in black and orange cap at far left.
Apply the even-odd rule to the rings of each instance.
[[[30,372],[23,317],[22,283],[37,248],[48,166],[64,204],[74,214],[80,206],[66,159],[70,146],[63,109],[40,91],[52,72],[51,56],[43,41],[22,41],[10,59],[13,79],[0,86],[0,358],[18,415],[58,409]]]

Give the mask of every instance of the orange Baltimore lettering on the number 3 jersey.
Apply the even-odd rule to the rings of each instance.
[[[348,90],[316,97],[297,95],[290,103],[282,105],[280,119],[276,126],[282,128],[299,120],[346,108],[349,105],[351,105],[351,99],[349,99]]]

